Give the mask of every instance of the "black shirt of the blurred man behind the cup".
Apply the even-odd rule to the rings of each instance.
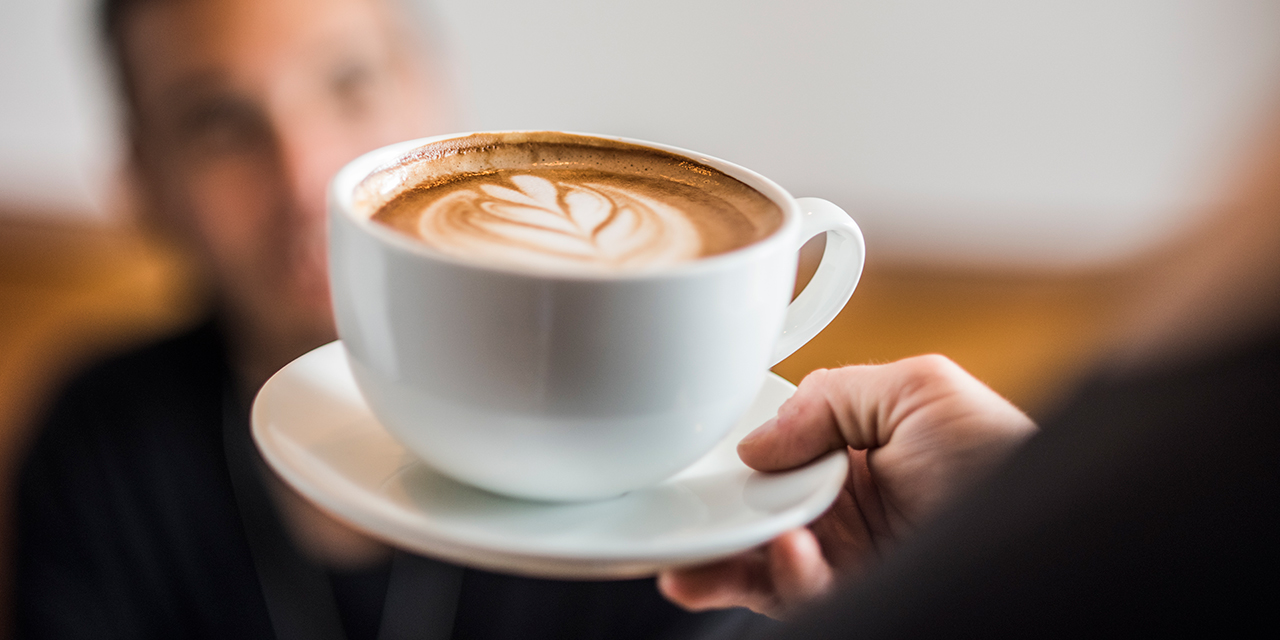
[[[22,637],[275,637],[224,454],[229,379],[209,324],[97,366],[61,394],[19,480]],[[388,575],[328,572],[348,637],[375,637]],[[453,637],[664,637],[737,620],[682,612],[653,580],[465,570]]]

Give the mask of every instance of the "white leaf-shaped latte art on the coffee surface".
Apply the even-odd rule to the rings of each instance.
[[[466,180],[430,202],[417,227],[445,253],[509,265],[634,269],[694,260],[701,250],[698,229],[671,205],[532,174]]]

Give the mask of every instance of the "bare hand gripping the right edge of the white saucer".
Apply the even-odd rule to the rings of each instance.
[[[832,508],[759,549],[666,571],[659,589],[690,609],[782,617],[909,534],[1036,429],[942,356],[814,371],[739,454],[753,468],[780,471],[845,448],[850,474]]]

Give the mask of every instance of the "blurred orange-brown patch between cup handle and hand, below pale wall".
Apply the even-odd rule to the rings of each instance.
[[[1117,283],[869,261],[845,310],[774,371],[799,383],[819,367],[943,353],[1037,415],[1096,361]]]

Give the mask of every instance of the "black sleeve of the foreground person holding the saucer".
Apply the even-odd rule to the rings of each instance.
[[[1271,339],[1096,380],[988,483],[769,637],[1242,635],[1275,627],[1277,576]]]

